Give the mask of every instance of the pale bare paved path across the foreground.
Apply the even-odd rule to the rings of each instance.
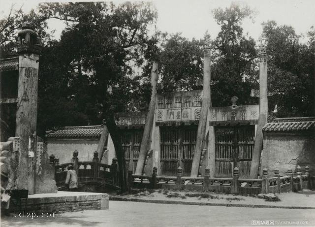
[[[252,221],[274,225],[315,226],[315,210],[173,205],[110,201],[109,210],[86,210],[56,214],[56,218],[5,218],[1,227],[209,227],[252,226]],[[284,225],[276,225],[276,222]],[[307,225],[303,222],[308,222]]]

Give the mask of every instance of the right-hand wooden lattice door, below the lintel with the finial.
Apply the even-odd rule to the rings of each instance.
[[[240,177],[249,177],[254,134],[254,126],[216,127],[216,177],[231,177],[234,166]]]

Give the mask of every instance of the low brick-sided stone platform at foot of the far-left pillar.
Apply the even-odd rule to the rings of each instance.
[[[109,196],[103,193],[58,192],[34,194],[22,199],[22,210],[35,213],[64,213],[80,210],[106,210],[109,208]],[[19,211],[11,203],[11,211]]]

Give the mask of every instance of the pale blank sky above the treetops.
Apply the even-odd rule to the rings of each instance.
[[[2,2],[0,18],[8,14],[11,2],[15,4],[15,8],[23,4],[23,11],[28,12],[43,1],[52,0],[0,0]],[[123,1],[114,0],[114,2]],[[220,26],[214,21],[212,10],[229,7],[232,0],[152,0],[152,2],[158,10],[158,30],[169,33],[182,32],[182,35],[189,39],[193,37],[200,39],[206,31],[212,38],[217,36]],[[298,34],[306,34],[315,24],[315,0],[234,0],[233,2],[248,5],[256,11],[254,21],[246,19],[243,22],[244,32],[255,40],[262,32],[261,23],[268,20],[275,20],[278,25],[290,25]],[[59,38],[64,28],[63,22],[51,20],[48,25],[50,29],[56,29],[55,38]]]

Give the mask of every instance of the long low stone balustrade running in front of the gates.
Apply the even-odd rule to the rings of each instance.
[[[205,169],[204,177],[183,177],[182,168],[178,167],[177,176],[157,176],[156,167],[153,168],[152,176],[132,175],[130,179],[133,188],[171,189],[171,190],[201,190],[214,191],[218,193],[256,195],[260,193],[284,193],[312,189],[314,177],[309,175],[309,167],[305,167],[302,174],[301,167],[297,166],[293,173],[291,169],[287,175],[280,176],[279,170],[274,175],[268,176],[268,170],[263,169],[261,179],[239,178],[237,167],[233,170],[232,178],[210,177],[209,168]]]

